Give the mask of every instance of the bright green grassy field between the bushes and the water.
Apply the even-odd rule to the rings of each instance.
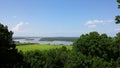
[[[49,45],[49,44],[32,44],[32,45],[19,45],[16,46],[18,51],[27,52],[27,51],[34,51],[34,50],[50,50],[55,48],[61,48],[63,45]],[[67,49],[72,49],[72,46],[66,46]]]

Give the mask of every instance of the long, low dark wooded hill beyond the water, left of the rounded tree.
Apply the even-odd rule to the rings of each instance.
[[[39,41],[72,41],[74,42],[79,37],[43,37]]]

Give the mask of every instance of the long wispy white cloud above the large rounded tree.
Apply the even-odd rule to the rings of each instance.
[[[89,20],[85,23],[85,25],[90,28],[95,28],[98,26],[98,24],[105,24],[111,22],[113,22],[113,20]]]

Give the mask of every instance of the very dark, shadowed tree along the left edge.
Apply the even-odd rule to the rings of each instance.
[[[22,63],[22,55],[17,52],[12,40],[13,32],[7,26],[0,24],[0,67],[13,68]]]

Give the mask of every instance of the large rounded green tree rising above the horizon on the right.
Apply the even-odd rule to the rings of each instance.
[[[112,38],[106,34],[100,35],[98,32],[90,32],[89,34],[81,35],[80,38],[74,42],[73,50],[81,52],[86,56],[99,56],[109,60],[108,53],[111,43]]]

